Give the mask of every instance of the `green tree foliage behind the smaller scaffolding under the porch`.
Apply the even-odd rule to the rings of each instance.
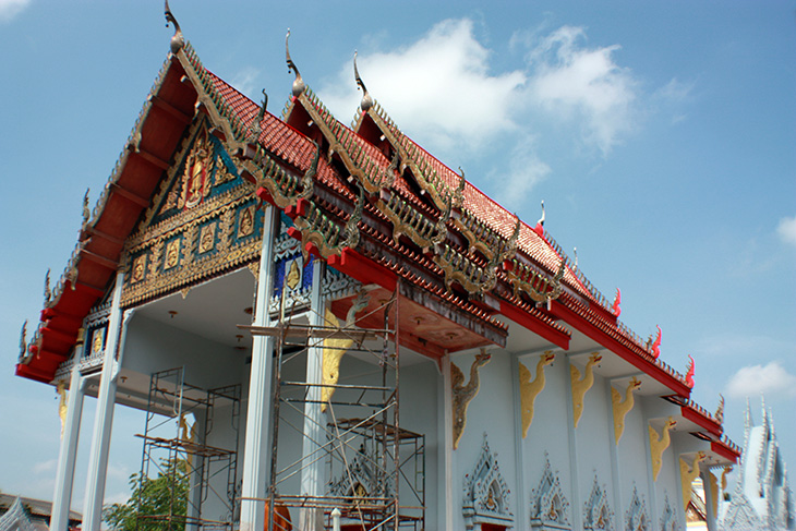
[[[125,504],[106,506],[102,520],[118,531],[183,531],[189,478],[182,459],[161,460],[157,478],[130,476],[133,493]]]

